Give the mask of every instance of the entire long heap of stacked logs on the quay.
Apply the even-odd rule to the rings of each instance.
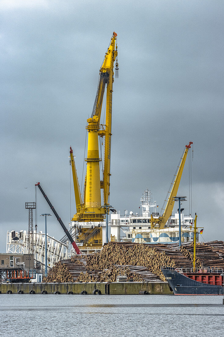
[[[196,267],[224,267],[224,243],[197,243]],[[143,244],[110,242],[102,250],[72,256],[57,263],[43,282],[114,282],[118,275],[127,281],[166,281],[160,267],[192,268],[193,244]]]

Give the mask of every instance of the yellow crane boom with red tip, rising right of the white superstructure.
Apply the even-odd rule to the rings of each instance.
[[[176,196],[177,192],[178,192],[178,187],[179,187],[182,172],[183,172],[183,169],[184,169],[184,164],[185,164],[185,161],[186,161],[186,158],[187,158],[188,150],[191,147],[191,144],[193,144],[193,143],[190,142],[188,145],[186,145],[186,149],[184,151],[183,158],[181,158],[181,163],[180,163],[180,166],[178,168],[178,172],[177,172],[172,190],[170,192],[170,196],[169,196],[169,199],[167,201],[164,213],[163,213],[162,216],[159,217],[159,219],[153,219],[152,216],[151,216],[151,227],[153,227],[157,223],[158,226],[156,226],[156,227],[158,227],[159,229],[164,228],[165,223],[167,222],[169,217],[172,215],[174,203],[175,203],[174,196]],[[180,210],[179,210],[179,212],[180,212]]]

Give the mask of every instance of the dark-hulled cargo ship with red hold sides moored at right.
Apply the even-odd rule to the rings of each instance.
[[[161,268],[175,295],[223,295],[223,269]]]

